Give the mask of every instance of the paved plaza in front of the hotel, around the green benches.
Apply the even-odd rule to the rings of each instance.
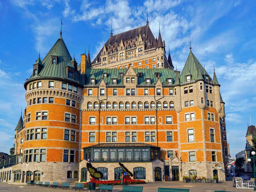
[[[70,186],[74,186],[72,183]],[[147,184],[136,184],[136,186],[143,186],[143,192],[157,192],[158,187],[168,187],[168,188],[183,188],[190,189],[190,192],[214,192],[215,190],[220,191],[235,191],[235,192],[249,192],[253,189],[236,189],[232,187],[232,181],[220,182],[218,184],[202,184],[202,183],[182,183],[181,181],[159,181],[159,182],[150,182]],[[121,185],[115,185],[113,192],[121,191]],[[0,191],[1,192],[47,192],[47,191],[59,191],[59,189],[45,188],[45,187],[34,187],[27,186],[24,184],[8,184],[0,182]],[[71,191],[71,190],[70,190]],[[84,190],[88,191],[88,190]]]

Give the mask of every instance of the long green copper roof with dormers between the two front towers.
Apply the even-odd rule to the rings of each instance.
[[[92,69],[86,69],[86,85],[90,85],[90,79],[95,78],[96,79],[96,83],[98,84],[101,81],[101,77],[103,73],[107,73],[108,77],[107,78],[103,78],[104,82],[106,84],[112,84],[112,80],[111,79],[115,79],[117,78],[117,85],[123,85],[124,82],[124,78],[120,78],[119,73],[123,73],[125,74],[125,72],[128,69],[100,69],[100,68],[92,68]],[[136,74],[138,74],[139,72],[142,73],[142,77],[138,76],[138,85],[146,85],[145,79],[146,78],[150,78],[151,79],[151,85],[153,85],[154,83],[157,83],[157,78],[155,77],[155,72],[159,72],[160,73],[160,82],[163,84],[166,84],[166,78],[173,78],[173,80],[175,79],[175,74],[174,71],[172,71],[172,69],[166,68],[166,69],[133,69],[135,71]],[[175,82],[174,82],[175,83]]]

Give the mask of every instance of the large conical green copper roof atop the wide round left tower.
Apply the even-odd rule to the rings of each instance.
[[[51,56],[57,56],[56,64],[52,64]],[[72,57],[68,52],[67,46],[65,45],[63,39],[60,37],[42,61],[42,65],[44,66],[42,71],[36,76],[31,76],[29,80],[38,78],[38,76],[40,76],[49,78],[62,78],[83,84],[78,71],[74,72],[74,79],[68,78],[65,67],[69,65],[70,67],[74,68],[74,66],[70,63],[71,60]]]

